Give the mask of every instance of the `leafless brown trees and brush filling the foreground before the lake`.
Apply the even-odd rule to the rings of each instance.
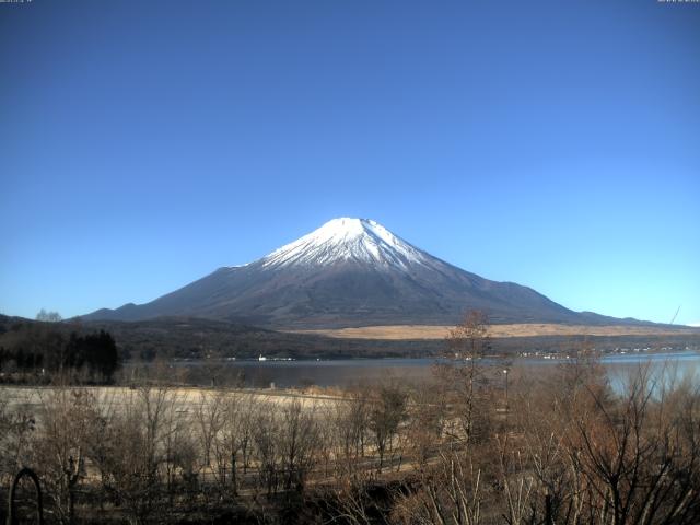
[[[30,405],[0,390],[0,486],[33,466],[62,524],[700,523],[696,382],[480,363],[325,398],[175,389],[167,368]]]

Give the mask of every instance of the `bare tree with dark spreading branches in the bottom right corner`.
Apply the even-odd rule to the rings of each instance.
[[[657,387],[660,389],[657,389]],[[593,488],[596,520],[614,525],[697,523],[700,479],[698,390],[668,404],[663,386],[640,370],[626,396],[580,415],[570,446]]]

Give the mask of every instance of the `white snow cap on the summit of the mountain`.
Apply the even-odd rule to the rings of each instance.
[[[429,258],[375,221],[340,218],[276,249],[261,262],[266,268],[353,261],[407,269],[411,265],[424,265]]]

